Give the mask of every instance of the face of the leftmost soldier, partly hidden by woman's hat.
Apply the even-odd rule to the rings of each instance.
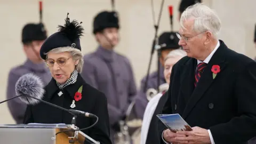
[[[40,49],[44,41],[33,41],[30,44],[24,45],[24,51],[27,58],[34,63],[40,63],[43,59],[40,57]]]

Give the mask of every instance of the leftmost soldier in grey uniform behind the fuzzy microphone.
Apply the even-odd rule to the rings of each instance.
[[[28,23],[23,27],[22,44],[27,60],[22,65],[10,70],[6,90],[7,99],[15,97],[15,83],[20,76],[27,73],[34,73],[41,77],[45,85],[50,82],[51,73],[39,55],[39,50],[46,38],[46,31],[42,23]],[[7,101],[7,105],[15,122],[21,124],[27,105],[21,102],[20,99]]]

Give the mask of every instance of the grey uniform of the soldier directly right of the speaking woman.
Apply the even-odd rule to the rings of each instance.
[[[103,47],[84,56],[82,77],[105,93],[110,125],[118,123],[137,93],[132,67],[127,58]],[[113,137],[113,129],[110,129]]]

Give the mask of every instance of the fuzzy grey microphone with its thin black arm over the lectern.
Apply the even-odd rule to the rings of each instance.
[[[97,117],[93,114],[90,114],[84,111],[79,111],[74,109],[68,110],[66,108],[62,108],[60,106],[54,105],[53,103],[44,101],[42,100],[44,92],[45,92],[44,85],[41,79],[38,76],[32,73],[29,73],[21,76],[18,79],[17,83],[15,84],[15,93],[18,96],[7,99],[5,101],[18,97],[22,102],[26,103],[27,105],[36,105],[39,102],[43,102],[52,107],[67,111],[68,113],[71,113],[73,115],[79,115],[79,116],[85,116],[85,117]],[[5,101],[2,101],[0,103],[3,103]]]

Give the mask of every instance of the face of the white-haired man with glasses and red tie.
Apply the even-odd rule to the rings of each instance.
[[[186,29],[179,29],[181,36],[179,45],[187,53],[188,57],[199,59],[205,51],[205,31],[198,33],[193,30],[194,20],[188,19],[183,22]]]

